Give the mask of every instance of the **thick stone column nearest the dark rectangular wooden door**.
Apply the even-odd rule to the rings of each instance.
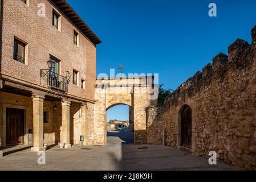
[[[44,96],[32,96],[33,100],[33,147],[32,152],[44,151],[43,147],[43,100]]]

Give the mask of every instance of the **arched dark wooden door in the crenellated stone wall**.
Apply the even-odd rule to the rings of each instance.
[[[192,146],[192,110],[188,105],[181,111],[181,146]]]

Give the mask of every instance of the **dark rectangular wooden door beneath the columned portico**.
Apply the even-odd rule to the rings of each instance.
[[[6,145],[24,143],[24,110],[6,108]]]

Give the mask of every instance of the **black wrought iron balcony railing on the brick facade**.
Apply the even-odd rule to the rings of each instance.
[[[41,69],[41,84],[42,81],[47,82],[49,88],[58,89],[62,92],[68,92],[68,80],[66,77],[54,73],[49,69]]]

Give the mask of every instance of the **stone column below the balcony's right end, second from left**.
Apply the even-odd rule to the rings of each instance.
[[[71,148],[70,144],[70,101],[62,101],[62,143],[65,148]]]

